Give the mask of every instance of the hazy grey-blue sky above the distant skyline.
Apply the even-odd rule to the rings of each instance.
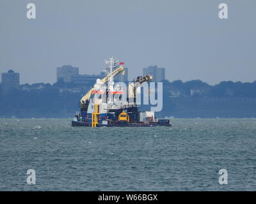
[[[26,17],[35,3],[36,19]],[[228,4],[228,19],[218,5]],[[166,78],[256,80],[255,0],[1,0],[0,73],[56,82],[56,67],[99,73],[113,55],[129,68],[166,68]]]

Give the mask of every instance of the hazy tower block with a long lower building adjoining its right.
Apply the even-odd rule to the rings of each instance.
[[[79,75],[79,68],[63,65],[57,68],[57,82],[72,82],[72,77]]]

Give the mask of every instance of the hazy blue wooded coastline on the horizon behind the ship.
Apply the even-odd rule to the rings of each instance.
[[[8,94],[0,94],[0,117],[72,118],[79,110],[77,101],[93,83],[20,85]],[[256,117],[256,81],[209,85],[201,80],[163,80],[163,92],[163,110],[156,113],[157,117]]]

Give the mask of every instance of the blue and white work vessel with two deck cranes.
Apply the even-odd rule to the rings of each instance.
[[[126,84],[115,83],[114,77],[124,75],[124,62],[113,57],[105,60],[106,77],[95,85],[79,101],[80,112],[72,120],[72,126],[87,127],[155,127],[172,126],[169,119],[157,119],[153,111],[140,111],[137,96],[144,83],[152,82],[152,75],[137,77]]]

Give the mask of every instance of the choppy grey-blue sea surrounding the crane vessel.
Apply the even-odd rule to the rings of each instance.
[[[256,119],[173,119],[156,128],[0,119],[0,191],[255,190]]]

